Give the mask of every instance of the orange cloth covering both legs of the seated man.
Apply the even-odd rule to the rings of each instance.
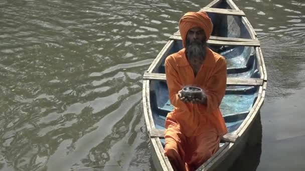
[[[179,170],[196,170],[219,149],[220,136],[213,129],[188,137],[173,123],[166,130],[165,154]]]

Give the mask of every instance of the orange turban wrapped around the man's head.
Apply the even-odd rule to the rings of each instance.
[[[213,23],[208,14],[204,11],[187,12],[179,21],[179,31],[182,37],[183,45],[186,47],[186,37],[189,29],[193,27],[200,27],[205,31],[206,40],[210,38],[213,30]]]

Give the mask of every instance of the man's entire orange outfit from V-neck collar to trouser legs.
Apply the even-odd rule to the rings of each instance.
[[[227,133],[219,109],[226,89],[226,60],[208,48],[195,77],[183,48],[166,58],[165,67],[169,97],[174,105],[166,118],[165,155],[180,169],[195,170],[219,149],[220,137]],[[201,87],[207,104],[180,100],[178,91],[185,85]]]

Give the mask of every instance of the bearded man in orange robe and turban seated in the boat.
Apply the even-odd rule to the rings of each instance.
[[[175,170],[195,170],[218,149],[227,133],[219,109],[225,94],[227,66],[207,46],[213,29],[206,12],[187,12],[179,21],[185,48],[166,58],[166,77],[174,110],[168,113],[165,155]],[[201,99],[181,94],[186,85],[201,87]]]

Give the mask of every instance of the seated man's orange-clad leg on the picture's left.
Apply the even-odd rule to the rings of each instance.
[[[171,161],[174,170],[185,170],[185,136],[181,133],[174,120],[166,120],[167,129],[165,131],[165,155]]]

